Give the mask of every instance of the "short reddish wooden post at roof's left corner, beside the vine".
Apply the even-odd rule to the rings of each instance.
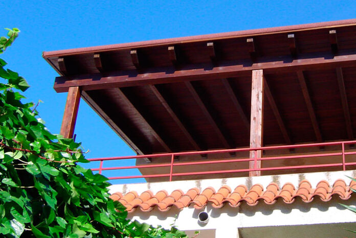
[[[80,101],[79,87],[70,87],[68,91],[67,100],[65,103],[62,127],[60,134],[64,138],[73,138],[75,122],[77,120],[78,108]]]

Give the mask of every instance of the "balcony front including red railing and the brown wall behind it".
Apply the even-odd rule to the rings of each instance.
[[[112,183],[121,183],[120,181],[123,180],[125,180],[125,183],[143,181],[137,179],[145,179],[147,182],[160,182],[231,178],[247,177],[250,172],[255,171],[260,171],[261,175],[280,175],[354,170],[356,169],[356,148],[354,148],[354,144],[356,144],[356,140],[92,158],[88,160],[91,162],[99,161],[99,167],[92,170],[109,176],[110,180],[118,180],[112,181]],[[258,151],[263,154],[261,158],[256,155]],[[249,156],[250,153],[255,154],[254,158]],[[118,166],[132,159],[136,159],[136,165]],[[147,162],[148,160],[149,162]],[[256,166],[258,161],[261,162],[261,168]],[[255,166],[251,168],[250,162],[253,162]],[[116,166],[107,166],[108,163]],[[132,170],[136,170],[136,172]],[[125,173],[136,173],[137,175],[124,176]]]

